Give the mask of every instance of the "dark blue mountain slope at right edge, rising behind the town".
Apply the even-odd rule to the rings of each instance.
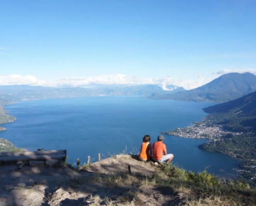
[[[256,92],[203,109],[206,113],[216,114],[220,124],[229,127],[251,127],[256,131]]]

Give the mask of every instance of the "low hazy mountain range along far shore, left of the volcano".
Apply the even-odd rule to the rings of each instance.
[[[50,87],[31,87],[27,85],[0,86],[0,105],[11,104],[11,102],[21,100],[36,100],[50,98],[68,97],[87,97],[104,95],[140,95],[151,96],[153,94],[171,94],[184,91],[181,87],[167,85],[167,90],[163,90],[158,85],[96,85],[91,88],[50,88]]]

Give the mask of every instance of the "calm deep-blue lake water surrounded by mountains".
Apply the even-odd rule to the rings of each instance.
[[[151,142],[161,131],[190,126],[206,115],[202,108],[210,102],[152,100],[131,96],[98,96],[84,98],[22,101],[5,106],[17,120],[3,124],[0,137],[29,151],[44,148],[67,149],[69,163],[87,156],[97,160],[119,152],[138,153],[145,134]],[[221,177],[236,175],[232,168],[238,161],[221,153],[204,151],[202,139],[164,135],[173,162],[187,170],[207,171]],[[223,170],[220,172],[220,170]]]

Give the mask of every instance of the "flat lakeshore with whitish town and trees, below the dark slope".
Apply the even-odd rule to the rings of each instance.
[[[199,138],[207,139],[208,143],[200,145],[199,148],[208,151],[217,151],[225,153],[233,158],[242,160],[239,165],[239,169],[233,168],[237,171],[237,181],[252,183],[256,179],[256,160],[249,156],[244,156],[238,147],[230,145],[232,139],[231,136],[235,137],[235,141],[239,139],[244,139],[246,136],[254,136],[249,130],[244,132],[229,131],[224,129],[224,125],[214,124],[213,118],[208,115],[204,117],[203,121],[195,122],[192,126],[185,128],[177,128],[170,130],[168,132],[161,132],[163,134],[174,135],[180,138]],[[250,129],[245,127],[245,129]],[[226,148],[226,145],[230,145]],[[247,154],[248,155],[248,154]],[[255,185],[253,183],[253,185]]]

